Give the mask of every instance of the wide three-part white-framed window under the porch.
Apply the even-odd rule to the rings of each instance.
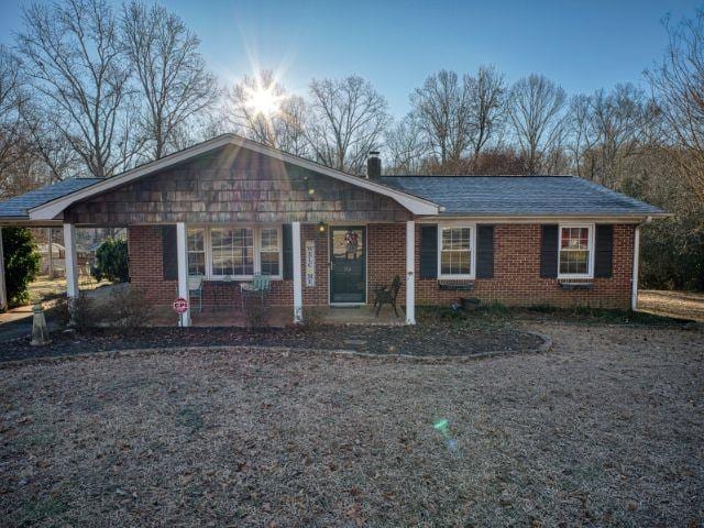
[[[188,273],[208,277],[282,276],[278,227],[212,227],[188,230]]]

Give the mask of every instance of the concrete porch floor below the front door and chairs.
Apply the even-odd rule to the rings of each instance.
[[[240,307],[231,306],[204,306],[202,311],[191,311],[191,324],[194,327],[246,327],[248,321]],[[304,321],[306,317],[316,318],[323,324],[363,324],[363,326],[402,326],[406,322],[404,310],[398,307],[398,317],[394,309],[385,305],[378,317],[372,306],[307,306],[304,308]],[[160,311],[154,317],[153,324],[158,327],[172,327],[176,324],[177,316],[173,311]],[[286,306],[275,306],[270,309],[266,326],[283,328],[293,324],[294,309]]]

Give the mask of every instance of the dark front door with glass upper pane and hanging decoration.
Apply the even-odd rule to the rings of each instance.
[[[364,227],[330,227],[330,302],[366,302]]]

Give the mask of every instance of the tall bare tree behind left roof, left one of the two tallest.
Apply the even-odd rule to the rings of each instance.
[[[62,132],[96,177],[124,166],[118,127],[130,97],[130,72],[118,25],[103,0],[32,4],[23,12],[18,50],[43,119]],[[131,142],[132,139],[130,138]]]

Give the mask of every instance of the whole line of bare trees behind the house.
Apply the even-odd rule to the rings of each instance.
[[[200,41],[160,4],[63,0],[23,10],[0,46],[0,198],[76,176],[109,177],[222,132],[363,175],[576,174],[674,212],[644,238],[644,279],[704,289],[704,13],[663,21],[668,48],[638,82],[569,97],[491,65],[439,70],[391,114],[367,79],[272,72],[222,86]],[[252,105],[265,94],[276,105]]]

